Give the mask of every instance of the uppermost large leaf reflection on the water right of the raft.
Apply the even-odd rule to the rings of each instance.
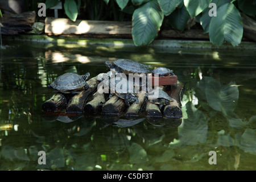
[[[228,85],[222,85],[218,80],[212,80],[207,83],[205,94],[207,102],[212,109],[222,111],[224,115],[228,112],[234,111],[236,108],[239,90],[234,82]]]

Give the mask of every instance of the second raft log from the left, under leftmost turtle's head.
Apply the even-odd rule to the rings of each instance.
[[[86,90],[80,91],[79,94],[73,96],[67,105],[67,113],[83,113],[84,106],[88,98],[97,90],[97,86],[99,81],[97,80],[97,76],[91,78],[90,80],[86,81],[89,85],[89,88]]]

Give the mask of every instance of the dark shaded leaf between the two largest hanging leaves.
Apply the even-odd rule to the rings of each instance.
[[[186,7],[183,6],[181,9],[176,9],[168,20],[170,20],[170,24],[173,28],[177,30],[184,30],[189,17]]]

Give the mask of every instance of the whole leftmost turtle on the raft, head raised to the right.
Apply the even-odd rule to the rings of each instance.
[[[63,75],[56,78],[49,87],[55,89],[53,92],[71,93],[77,94],[78,90],[88,89],[89,85],[86,80],[89,78],[90,73],[85,75],[78,75],[76,73],[64,73]]]

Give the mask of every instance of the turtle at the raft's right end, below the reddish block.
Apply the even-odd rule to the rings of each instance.
[[[146,93],[146,96],[150,102],[158,104],[160,110],[162,110],[163,106],[169,105],[170,102],[174,102],[174,100],[172,100],[172,98],[162,89],[158,89],[158,92],[158,98],[148,97],[150,93]]]

